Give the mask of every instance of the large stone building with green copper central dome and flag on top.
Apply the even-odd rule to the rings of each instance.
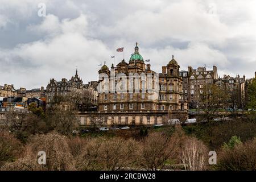
[[[129,63],[122,60],[110,69],[104,64],[98,71],[98,111],[92,115],[104,115],[106,125],[154,125],[168,118],[184,121],[188,103],[183,98],[179,68],[173,56],[157,74],[144,63],[136,44]],[[90,117],[80,113],[81,124],[90,125]]]

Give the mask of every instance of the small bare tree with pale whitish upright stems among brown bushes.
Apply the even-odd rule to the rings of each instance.
[[[207,166],[207,147],[196,138],[188,138],[183,144],[180,159],[185,170],[205,170]]]

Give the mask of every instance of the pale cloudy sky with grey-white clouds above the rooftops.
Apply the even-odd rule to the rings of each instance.
[[[46,16],[39,16],[39,3]],[[135,42],[151,69],[160,72],[172,55],[181,69],[217,65],[223,76],[254,76],[256,1],[0,0],[0,85],[28,89],[50,78],[97,80],[134,52]]]

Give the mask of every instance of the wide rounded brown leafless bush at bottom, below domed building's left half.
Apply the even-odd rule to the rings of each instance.
[[[89,140],[77,158],[79,170],[122,170],[134,166],[138,156],[138,142],[123,138],[94,138]]]

